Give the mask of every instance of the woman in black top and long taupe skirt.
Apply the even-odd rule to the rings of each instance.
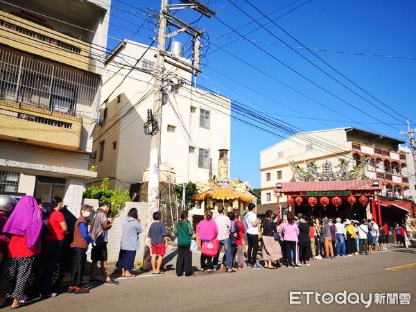
[[[271,210],[266,211],[266,219],[261,224],[264,267],[269,269],[275,269],[272,261],[277,261],[277,266],[279,266],[279,259],[282,257],[280,243],[275,240],[277,224],[273,222],[272,217],[273,212]]]

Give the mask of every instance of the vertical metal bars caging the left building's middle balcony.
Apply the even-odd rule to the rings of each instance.
[[[0,49],[0,100],[72,116],[91,116],[101,78]]]

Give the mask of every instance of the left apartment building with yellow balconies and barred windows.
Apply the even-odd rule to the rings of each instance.
[[[0,193],[78,215],[98,119],[110,0],[0,5]],[[89,29],[90,31],[87,31]]]

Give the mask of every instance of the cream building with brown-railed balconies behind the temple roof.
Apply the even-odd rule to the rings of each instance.
[[[380,180],[382,196],[396,199],[414,197],[415,168],[410,165],[410,149],[404,141],[358,128],[336,128],[300,132],[260,152],[261,203],[277,202],[274,188],[278,182],[291,182],[295,173],[289,162],[306,169],[306,163],[315,161],[318,171],[325,162],[331,170],[340,166],[340,158],[348,162],[349,169],[370,157],[363,175]]]

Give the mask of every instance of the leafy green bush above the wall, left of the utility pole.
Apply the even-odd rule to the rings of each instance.
[[[100,202],[111,202],[111,217],[119,216],[124,208],[125,202],[130,201],[130,194],[128,190],[121,191],[119,187],[115,189],[108,189],[110,181],[107,177],[103,178],[100,187],[89,187],[85,189],[83,198],[98,199]]]

